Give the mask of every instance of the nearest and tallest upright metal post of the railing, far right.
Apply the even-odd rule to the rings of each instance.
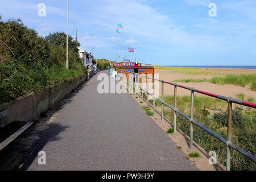
[[[230,98],[230,97],[229,97]],[[228,100],[228,137],[226,142],[226,171],[230,171],[230,147],[232,142],[232,102]]]

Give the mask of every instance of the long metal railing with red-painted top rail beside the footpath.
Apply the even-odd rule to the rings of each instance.
[[[147,94],[147,106],[148,106],[148,96],[150,95],[154,98],[154,100],[153,100],[153,110],[154,111],[155,111],[155,100],[158,100],[158,101],[161,102],[161,104],[162,104],[161,122],[163,122],[163,105],[166,105],[166,106],[170,107],[170,109],[174,110],[174,134],[176,134],[176,113],[182,115],[184,118],[186,118],[190,121],[191,125],[190,125],[189,151],[193,151],[193,125],[192,124],[194,124],[194,125],[200,127],[201,129],[203,129],[204,131],[207,131],[207,133],[209,133],[213,137],[217,138],[218,140],[220,140],[221,142],[226,144],[226,147],[227,147],[226,170],[227,171],[230,171],[230,148],[233,148],[234,150],[240,152],[240,154],[242,154],[242,155],[246,156],[247,158],[256,162],[256,158],[255,158],[254,155],[251,155],[251,154],[249,154],[249,152],[246,152],[245,150],[242,150],[242,148],[236,146],[231,141],[231,139],[232,139],[232,103],[236,103],[236,104],[243,105],[243,106],[248,106],[248,107],[251,107],[251,108],[254,108],[254,109],[256,108],[255,103],[241,101],[241,100],[237,100],[237,99],[232,98],[232,97],[225,97],[225,96],[217,95],[217,94],[214,94],[214,93],[205,92],[203,90],[191,88],[191,87],[188,87],[188,86],[183,86],[183,85],[179,85],[179,84],[164,81],[164,80],[159,80],[157,78],[146,76],[146,75],[143,75],[141,73],[134,73],[134,72],[126,71],[126,70],[123,70],[123,69],[118,69],[118,71],[131,73],[131,74],[137,75],[138,77],[142,76],[142,82],[143,82],[143,77],[147,78],[147,89],[146,90],[143,89],[141,86],[135,84],[133,81],[130,81],[129,79],[127,79],[127,80],[129,82],[131,82],[133,85],[137,86],[139,89],[142,90],[142,101],[143,101],[143,93]],[[138,79],[138,77],[137,77],[137,79]],[[155,93],[155,81],[162,82],[162,99],[156,97],[155,94],[152,94],[152,93],[148,92],[148,80],[149,79],[154,80],[154,93]],[[169,104],[167,104],[166,102],[163,101],[164,83],[174,86],[174,106],[171,106],[171,105],[169,105]],[[177,87],[187,89],[187,90],[191,90],[191,116],[190,117],[176,109]],[[222,138],[220,135],[218,135],[218,134],[214,133],[213,131],[207,129],[207,127],[201,125],[200,123],[196,122],[195,119],[193,119],[194,92],[201,93],[201,94],[204,94],[206,96],[218,98],[218,99],[221,99],[221,100],[225,100],[225,101],[228,102],[228,134],[227,134],[227,139]]]

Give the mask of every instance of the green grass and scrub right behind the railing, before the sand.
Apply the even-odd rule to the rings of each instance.
[[[164,101],[174,106],[174,96],[165,96]],[[177,97],[177,109],[189,115],[190,96]],[[152,104],[152,100],[150,100]],[[161,103],[156,100],[156,109],[160,109]],[[164,116],[171,122],[174,112],[164,107]],[[201,125],[212,130],[223,138],[227,136],[228,113],[226,102],[216,98],[195,96],[194,119]],[[177,114],[177,128],[189,136],[190,123],[183,116]],[[199,127],[193,127],[193,139],[205,151],[216,151],[217,160],[226,165],[226,145]],[[256,151],[256,110],[234,105],[232,113],[232,142],[238,147],[255,156]],[[232,153],[232,170],[255,171],[256,164],[235,150]]]

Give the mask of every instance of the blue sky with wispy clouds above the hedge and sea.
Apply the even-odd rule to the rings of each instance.
[[[46,4],[46,17],[38,4]],[[210,17],[216,3],[217,17]],[[65,0],[0,0],[4,20],[20,18],[39,35],[66,32]],[[117,34],[117,23],[122,24]],[[256,65],[255,0],[69,0],[69,34],[98,59],[153,65]],[[118,36],[118,37],[117,37]]]

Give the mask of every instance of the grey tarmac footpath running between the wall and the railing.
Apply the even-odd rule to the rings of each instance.
[[[0,170],[198,170],[130,94],[99,94],[100,73],[0,151]]]

